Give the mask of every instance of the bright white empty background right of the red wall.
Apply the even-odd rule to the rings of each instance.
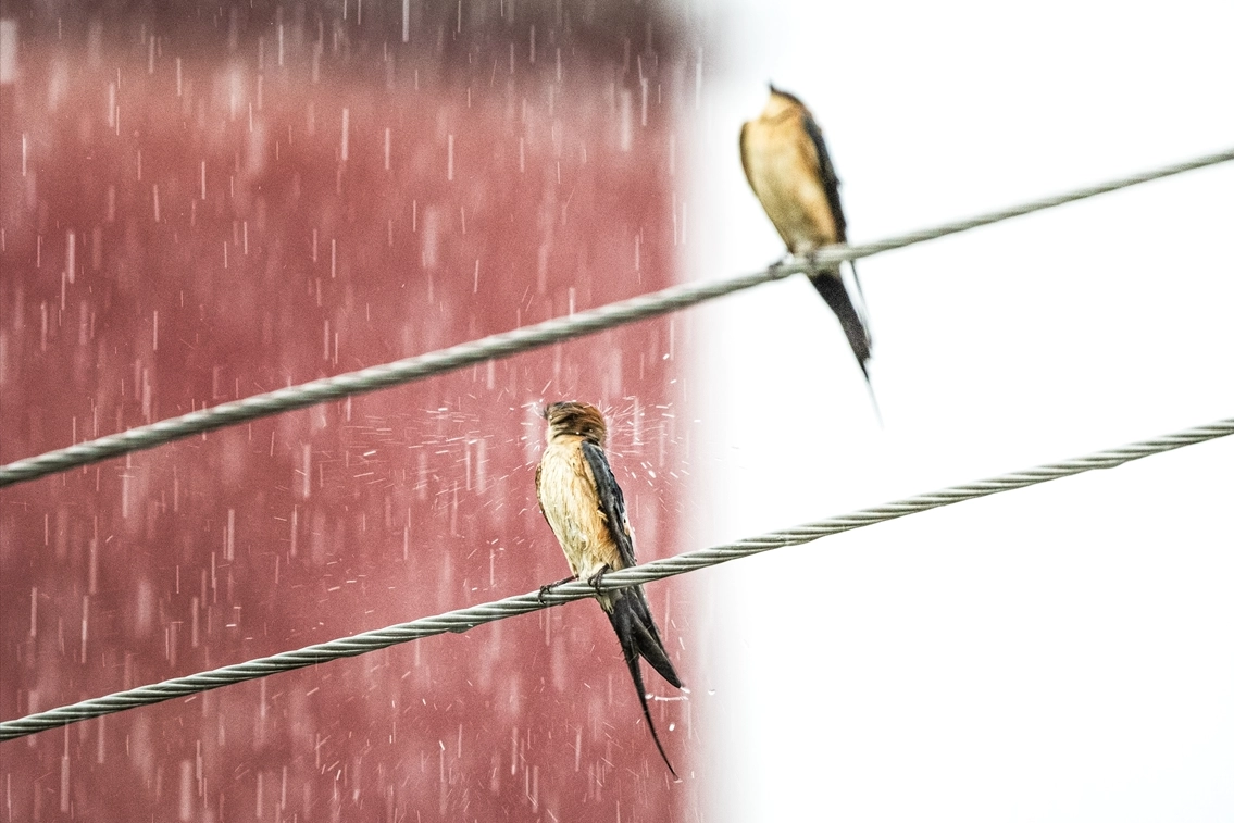
[[[1234,144],[1234,5],[705,17],[686,276],[782,244],[737,137],[807,102],[872,241]],[[803,278],[696,310],[685,548],[1234,416],[1234,163],[859,263],[880,428]],[[691,575],[708,821],[1234,818],[1234,442]],[[689,677],[687,677],[689,680]]]

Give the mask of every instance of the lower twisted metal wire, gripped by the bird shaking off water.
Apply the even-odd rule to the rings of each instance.
[[[687,552],[685,554],[665,558],[663,560],[653,560],[645,565],[606,574],[601,580],[598,589],[601,591],[612,591],[626,586],[650,582],[653,580],[661,580],[664,577],[671,577],[687,571],[696,571],[698,569],[706,569],[721,563],[727,563],[728,560],[747,558],[753,554],[760,554],[763,552],[780,549],[789,545],[810,543],[811,540],[816,540],[829,534],[848,532],[850,529],[861,528],[863,526],[881,523],[884,521],[895,519],[906,515],[924,512],[930,508],[950,506],[951,503],[972,500],[975,497],[986,497],[1002,491],[1011,491],[1013,489],[1022,489],[1024,486],[1032,486],[1049,480],[1058,480],[1059,478],[1081,474],[1092,469],[1112,469],[1130,460],[1138,460],[1151,454],[1170,452],[1183,445],[1228,437],[1229,434],[1234,434],[1234,417],[1217,421],[1215,423],[1209,423],[1207,426],[1198,426],[1175,434],[1166,434],[1165,437],[1154,438],[1151,440],[1133,443],[1117,449],[1108,449],[1087,457],[1064,460],[1062,463],[1004,474],[990,480],[980,480],[964,486],[951,486],[950,489],[943,489],[942,491],[935,491],[933,494],[918,495],[916,497],[885,503],[874,508],[864,508],[849,515],[842,515],[839,517],[819,521],[817,523],[807,523],[805,526],[797,526],[780,532],[770,532],[759,537],[747,538],[744,540],[738,540],[737,543],[717,545],[700,552]],[[354,634],[339,640],[310,645],[296,651],[284,651],[269,658],[262,658],[259,660],[249,660],[248,663],[223,666],[221,669],[215,669],[213,671],[164,680],[160,684],[139,686],[138,689],[116,692],[105,697],[85,700],[72,706],[62,706],[46,712],[38,712],[15,721],[0,722],[0,740],[11,740],[27,734],[35,734],[37,732],[46,732],[48,729],[68,726],[69,723],[77,723],[78,721],[101,717],[104,714],[112,714],[115,712],[122,712],[127,708],[136,708],[138,706],[149,706],[152,703],[159,703],[165,700],[184,697],[186,695],[195,695],[211,689],[218,689],[220,686],[238,684],[246,680],[254,680],[257,677],[265,677],[280,671],[302,669],[318,663],[337,660],[338,658],[350,658],[358,654],[364,654],[365,651],[374,651],[376,649],[384,649],[386,647],[406,643],[408,640],[418,640],[420,638],[432,637],[444,632],[466,632],[468,629],[484,623],[491,623],[494,621],[505,619],[516,614],[526,614],[540,608],[582,600],[585,597],[591,597],[595,593],[596,589],[587,582],[569,582],[557,586],[544,595],[533,591],[516,597],[506,597],[505,600],[482,603],[480,606],[471,606],[469,608],[445,612],[444,614],[438,614],[436,617],[423,617],[417,621],[411,621],[410,623],[400,623],[384,629]]]

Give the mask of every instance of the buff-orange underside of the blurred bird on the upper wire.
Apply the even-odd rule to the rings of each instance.
[[[752,120],[742,152],[750,188],[790,252],[807,254],[835,242],[817,152],[801,115]]]

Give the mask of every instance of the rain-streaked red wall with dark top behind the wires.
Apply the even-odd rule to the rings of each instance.
[[[694,77],[665,21],[416,2],[404,42],[378,5],[6,11],[4,461],[673,281]],[[0,716],[564,576],[532,481],[544,400],[610,410],[642,556],[673,554],[671,327],[4,489]],[[676,654],[675,592],[648,591]],[[653,711],[689,777],[689,705]],[[670,819],[682,791],[589,602],[0,760],[6,821]]]

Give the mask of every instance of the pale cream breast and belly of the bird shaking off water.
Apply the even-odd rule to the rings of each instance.
[[[576,442],[559,439],[544,449],[539,498],[575,576],[586,580],[606,564],[619,568],[591,466]]]

